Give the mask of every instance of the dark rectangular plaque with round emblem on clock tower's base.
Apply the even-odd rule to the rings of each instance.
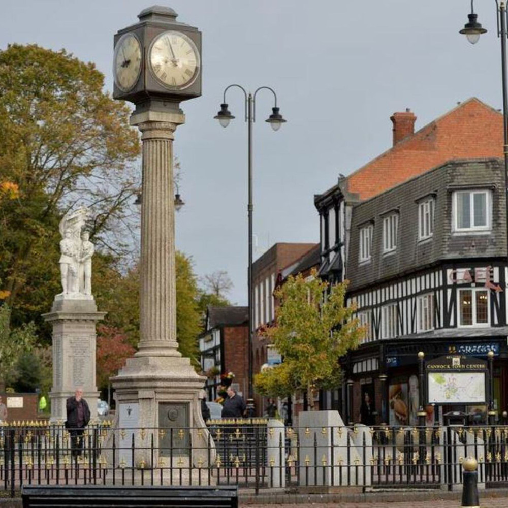
[[[178,402],[159,402],[159,426],[165,430],[159,447],[162,457],[188,456],[190,446],[189,436],[190,405]]]

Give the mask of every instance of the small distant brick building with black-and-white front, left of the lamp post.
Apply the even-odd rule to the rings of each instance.
[[[248,317],[248,307],[208,307],[206,331],[199,338],[208,400],[217,398],[220,376],[228,372],[235,374],[233,383],[240,395],[247,396]]]

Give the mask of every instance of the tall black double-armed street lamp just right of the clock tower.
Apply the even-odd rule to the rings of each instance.
[[[247,408],[249,415],[254,416],[254,399],[253,399],[253,390],[252,390],[252,337],[253,337],[253,305],[252,305],[252,123],[256,121],[256,94],[260,90],[270,90],[273,93],[274,97],[274,105],[272,108],[272,114],[265,120],[271,126],[274,131],[278,131],[282,123],[286,120],[282,118],[282,115],[279,112],[279,108],[277,107],[277,95],[272,88],[269,86],[260,86],[256,89],[256,91],[252,94],[250,92],[246,92],[243,86],[232,84],[225,88],[224,90],[224,98],[223,103],[220,105],[220,111],[214,116],[223,127],[227,127],[231,120],[235,117],[228,110],[228,103],[226,102],[226,92],[232,88],[240,88],[243,91],[245,97],[245,121],[247,122],[247,148],[248,148],[248,158],[247,158],[247,169],[248,169],[248,205],[247,205],[247,215],[248,215],[248,313],[249,313],[249,354],[248,354],[248,367],[249,367],[249,378],[248,378],[248,400],[247,400]]]

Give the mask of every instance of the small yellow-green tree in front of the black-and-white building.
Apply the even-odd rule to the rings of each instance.
[[[355,307],[344,303],[346,288],[347,281],[329,288],[313,270],[307,279],[290,276],[275,291],[280,299],[276,324],[262,333],[283,361],[255,376],[258,393],[281,397],[304,391],[312,406],[317,390],[340,385],[338,360],[365,333],[353,317]]]

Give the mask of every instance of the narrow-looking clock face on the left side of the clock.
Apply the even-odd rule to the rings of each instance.
[[[125,34],[116,43],[113,75],[120,90],[129,91],[141,72],[141,43],[134,34]]]

